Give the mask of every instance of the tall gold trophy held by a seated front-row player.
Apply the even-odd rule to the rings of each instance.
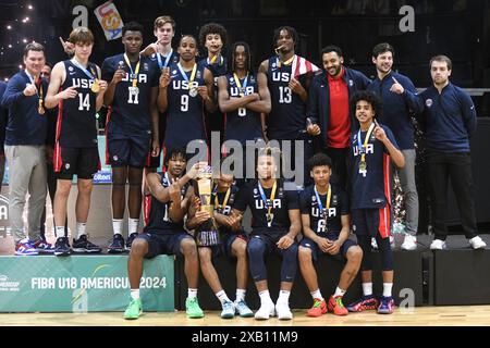
[[[215,206],[211,202],[212,170],[207,165],[199,171],[197,176],[197,189],[200,199],[200,211],[206,211],[211,216],[197,227],[196,241],[198,246],[216,246],[220,244],[219,232],[215,223]]]

